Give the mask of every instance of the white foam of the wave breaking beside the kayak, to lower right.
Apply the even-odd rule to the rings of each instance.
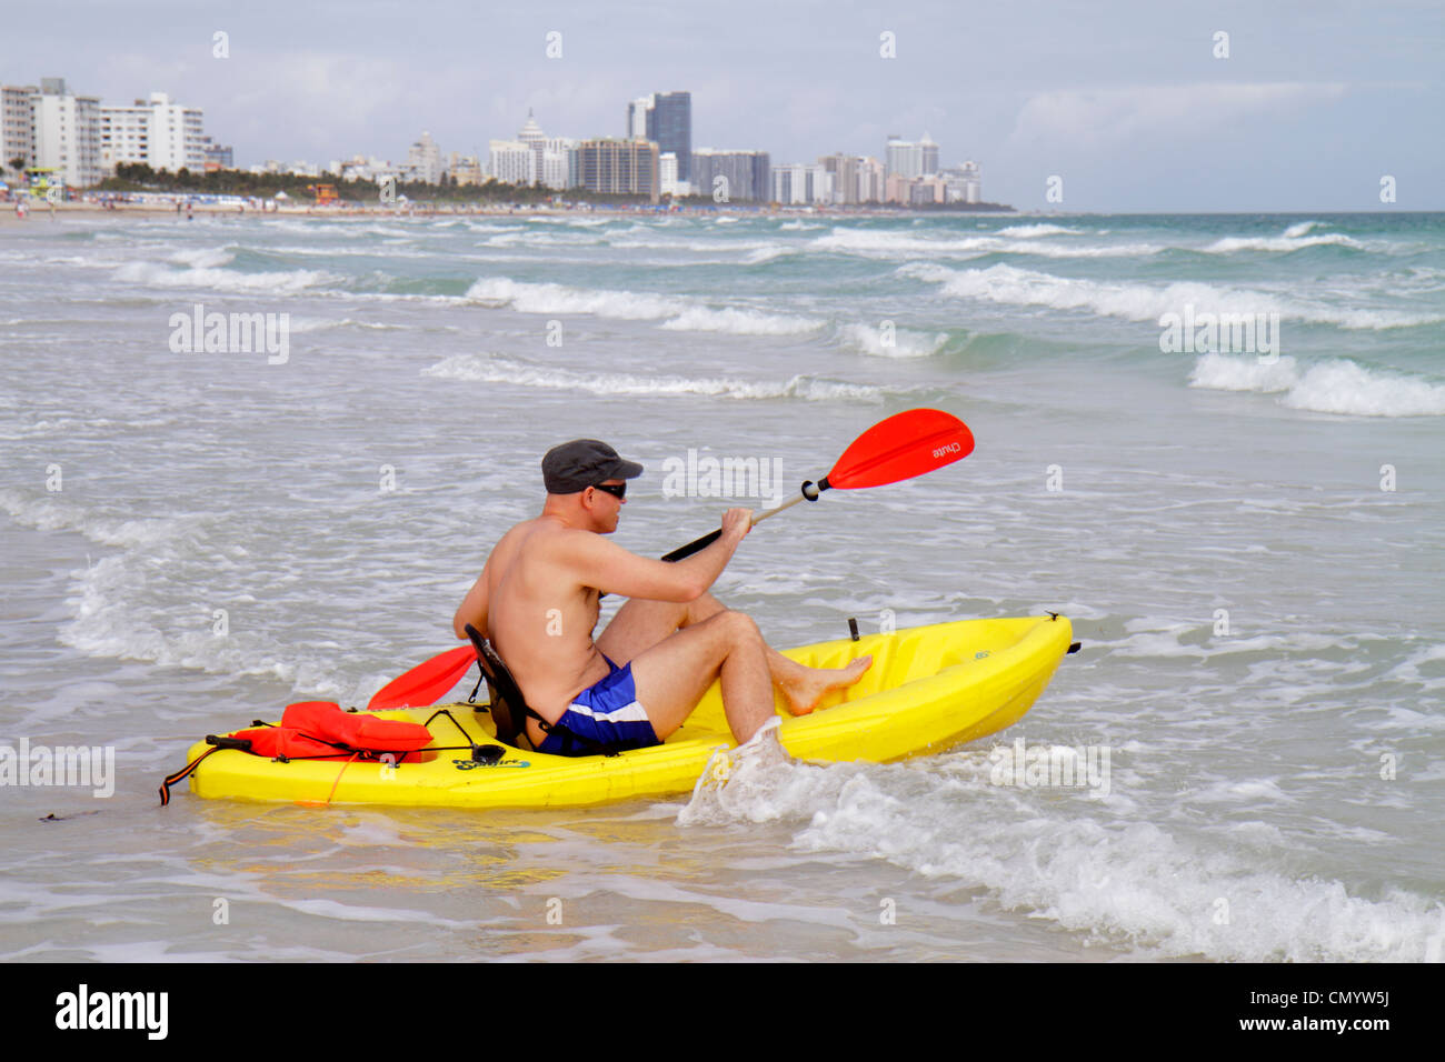
[[[1277,790],[1250,782],[1227,789],[1237,800]],[[1419,961],[1441,932],[1445,912],[1426,897],[1367,900],[1338,881],[1270,867],[1257,845],[1214,848],[1153,822],[1118,822],[1108,802],[1121,799],[994,786],[981,754],[959,757],[945,774],[821,767],[763,748],[709,763],[678,824],[805,822],[796,850],[955,878],[1009,910],[1160,958]],[[1217,918],[1220,897],[1227,919]]]

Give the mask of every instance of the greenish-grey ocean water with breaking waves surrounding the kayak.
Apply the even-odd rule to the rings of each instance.
[[[186,351],[197,305],[289,315],[285,360]],[[116,764],[0,786],[0,957],[1441,958],[1445,215],[35,218],[0,373],[0,744]],[[199,735],[454,644],[555,442],[647,465],[616,539],[662,553],[738,503],[669,458],[816,480],[912,406],[977,451],[715,590],[780,646],[1062,611],[994,738],[588,811],[158,806]],[[1019,741],[1107,792],[997,785]]]

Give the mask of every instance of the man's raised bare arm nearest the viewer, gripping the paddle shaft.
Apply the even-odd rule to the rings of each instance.
[[[751,519],[750,509],[727,510],[718,540],[676,564],[637,556],[591,532],[558,536],[556,561],[572,572],[578,584],[595,587],[604,594],[647,601],[694,601],[727,568],[737,545],[751,530]]]

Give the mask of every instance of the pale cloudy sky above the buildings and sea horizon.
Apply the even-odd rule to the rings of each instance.
[[[0,81],[171,92],[241,166],[402,160],[423,129],[484,156],[527,108],[549,134],[620,136],[630,98],[689,90],[694,147],[812,162],[928,131],[1019,210],[1445,210],[1439,0],[7,7]]]

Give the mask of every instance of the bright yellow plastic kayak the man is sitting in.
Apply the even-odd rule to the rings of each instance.
[[[802,760],[884,763],[945,751],[1003,730],[1029,711],[1069,652],[1071,636],[1065,617],[1038,616],[939,623],[785,650],[814,668],[841,668],[867,653],[874,662],[857,685],[829,695],[811,715],[788,715],[779,695],[779,738]],[[438,714],[444,707],[449,714]],[[572,808],[691,792],[712,751],[734,744],[717,683],[663,744],[618,756],[562,757],[503,747],[497,759],[484,705],[377,715],[428,724],[438,751],[409,753],[392,766],[277,761],[223,748],[195,769],[191,790],[205,798],[296,803]],[[491,753],[475,759],[471,747],[486,744],[493,744]],[[210,748],[198,743],[188,759]]]

